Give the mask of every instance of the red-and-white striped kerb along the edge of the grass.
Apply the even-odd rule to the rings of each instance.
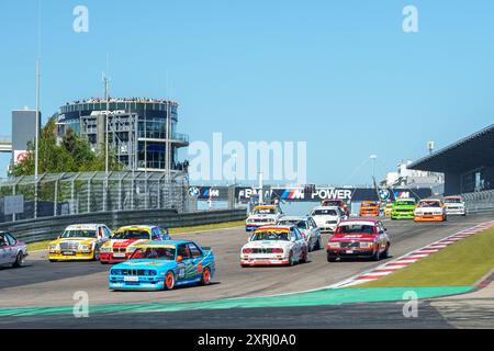
[[[409,252],[409,253],[402,256],[389,263],[384,263],[371,271],[358,274],[353,278],[350,278],[346,281],[334,284],[329,287],[330,288],[349,287],[349,286],[355,286],[355,285],[363,284],[367,282],[375,281],[375,280],[386,276],[397,270],[409,267],[411,264],[418,262],[422,259],[424,259],[435,252],[438,252],[438,251],[447,248],[450,245],[453,245],[453,244],[456,244],[460,240],[463,240],[472,235],[475,235],[478,233],[484,231],[484,230],[493,228],[493,227],[494,227],[494,220],[486,222],[486,223],[476,225],[473,228],[456,233],[447,238],[444,238],[439,241],[433,242],[433,244],[426,246],[425,248]]]

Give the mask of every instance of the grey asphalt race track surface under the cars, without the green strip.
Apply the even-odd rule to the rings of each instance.
[[[451,217],[447,223],[430,224],[386,220],[385,226],[392,239],[391,253],[393,257],[398,257],[486,220],[492,220],[492,215]],[[383,261],[369,260],[328,263],[325,251],[321,250],[312,252],[310,262],[305,264],[291,268],[242,269],[238,264],[238,256],[247,237],[248,234],[244,228],[177,236],[177,238],[191,239],[202,246],[212,247],[216,254],[217,274],[210,286],[186,287],[171,292],[110,292],[108,290],[110,267],[98,262],[49,263],[46,260],[46,252],[34,252],[24,268],[0,270],[0,308],[72,306],[74,293],[79,291],[89,294],[92,305],[198,302],[277,295],[326,287],[383,263]],[[326,236],[324,240],[327,240]],[[272,318],[277,320],[277,328],[280,326],[287,328],[301,326],[303,328],[450,327],[427,303],[422,305],[424,319],[418,318],[413,322],[403,318],[400,305],[388,304],[389,308],[384,308],[384,312],[380,305],[383,304],[218,309],[207,313],[201,310],[114,313],[91,315],[91,318],[86,320],[71,316],[1,317],[0,328],[38,328],[42,321],[43,327],[49,328],[108,326],[128,328],[136,325],[143,328],[169,328],[166,321],[168,319],[172,319],[177,328],[250,328],[252,326],[270,328],[273,326]],[[385,312],[393,308],[396,309],[396,316]],[[238,318],[239,315],[236,314],[242,314],[244,317]],[[400,321],[393,321],[394,318]]]

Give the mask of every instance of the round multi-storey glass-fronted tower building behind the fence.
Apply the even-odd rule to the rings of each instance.
[[[111,112],[109,143],[122,163],[137,170],[165,170],[167,126],[170,123],[170,166],[171,169],[183,170],[183,163],[177,159],[178,148],[188,146],[189,138],[177,133],[177,103],[150,99],[112,99],[108,110]],[[61,125],[86,136],[97,150],[104,143],[101,131],[105,131],[105,126],[99,124],[104,124],[105,111],[106,103],[102,100],[77,101],[60,107],[59,121],[63,121]],[[58,131],[61,134],[65,129]]]

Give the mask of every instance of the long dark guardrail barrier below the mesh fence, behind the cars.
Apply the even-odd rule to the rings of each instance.
[[[105,224],[112,229],[137,224],[180,228],[243,220],[246,217],[246,210],[191,212],[180,214],[172,210],[122,211],[2,223],[0,224],[0,230],[10,231],[15,235],[19,240],[30,244],[55,239],[67,226],[74,224],[98,223]]]

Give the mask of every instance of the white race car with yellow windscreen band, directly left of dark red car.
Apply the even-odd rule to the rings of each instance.
[[[295,226],[257,229],[242,248],[240,265],[293,265],[307,261],[308,246]]]

